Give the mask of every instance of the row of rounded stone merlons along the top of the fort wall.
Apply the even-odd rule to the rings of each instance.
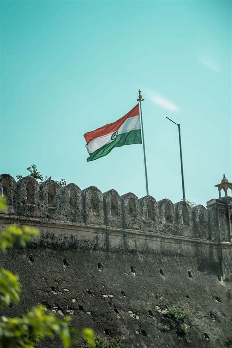
[[[7,199],[7,214],[230,242],[231,204],[215,203],[207,210],[184,201],[102,193],[95,186],[59,187],[50,179],[39,184],[31,176],[16,182],[9,174],[0,175],[0,193]]]

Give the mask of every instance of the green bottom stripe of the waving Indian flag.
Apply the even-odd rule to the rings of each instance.
[[[90,153],[90,157],[87,158],[87,162],[94,161],[100,157],[108,155],[110,151],[114,148],[119,148],[123,145],[131,144],[141,144],[142,136],[141,129],[131,130],[128,133],[118,134],[116,139],[111,143],[102,146],[100,149],[97,149],[95,152]]]

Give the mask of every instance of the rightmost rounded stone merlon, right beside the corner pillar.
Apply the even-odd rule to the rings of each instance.
[[[193,236],[209,239],[208,211],[203,205],[192,208]]]

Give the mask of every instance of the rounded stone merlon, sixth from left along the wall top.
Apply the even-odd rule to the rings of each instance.
[[[122,227],[121,197],[115,190],[103,193],[105,224],[112,227]]]

